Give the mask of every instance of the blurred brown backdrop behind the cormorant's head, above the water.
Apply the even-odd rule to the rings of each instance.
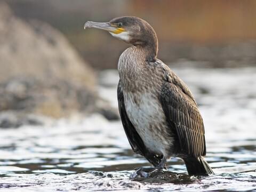
[[[106,22],[122,15],[147,20],[159,39],[159,58],[204,61],[213,67],[255,63],[256,2],[239,1],[101,1],[9,0],[13,13],[37,19],[61,31],[93,68],[116,68],[127,47],[104,31],[83,30],[85,21]],[[110,46],[111,45],[111,46]]]

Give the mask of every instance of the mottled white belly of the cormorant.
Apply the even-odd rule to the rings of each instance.
[[[172,144],[172,139],[167,133],[168,127],[159,101],[150,93],[135,95],[131,92],[124,93],[124,100],[127,116],[145,146],[150,151],[168,158],[167,150]]]

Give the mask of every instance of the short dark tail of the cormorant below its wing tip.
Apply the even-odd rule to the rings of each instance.
[[[214,174],[210,165],[204,160],[204,157],[186,157],[183,158],[189,175],[210,175]]]

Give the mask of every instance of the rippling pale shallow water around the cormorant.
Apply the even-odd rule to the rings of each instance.
[[[135,167],[149,164],[133,154],[121,122],[94,114],[0,130],[0,190],[256,191],[256,68],[174,71],[198,102],[215,175],[189,177],[171,158],[169,172],[130,180]],[[116,71],[100,74],[99,91],[113,106],[117,81]]]

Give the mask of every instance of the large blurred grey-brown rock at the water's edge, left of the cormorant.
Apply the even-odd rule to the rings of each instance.
[[[1,2],[0,44],[0,113],[59,118],[99,110],[94,71],[59,31],[41,21],[25,22]],[[33,123],[9,117],[0,126]]]

